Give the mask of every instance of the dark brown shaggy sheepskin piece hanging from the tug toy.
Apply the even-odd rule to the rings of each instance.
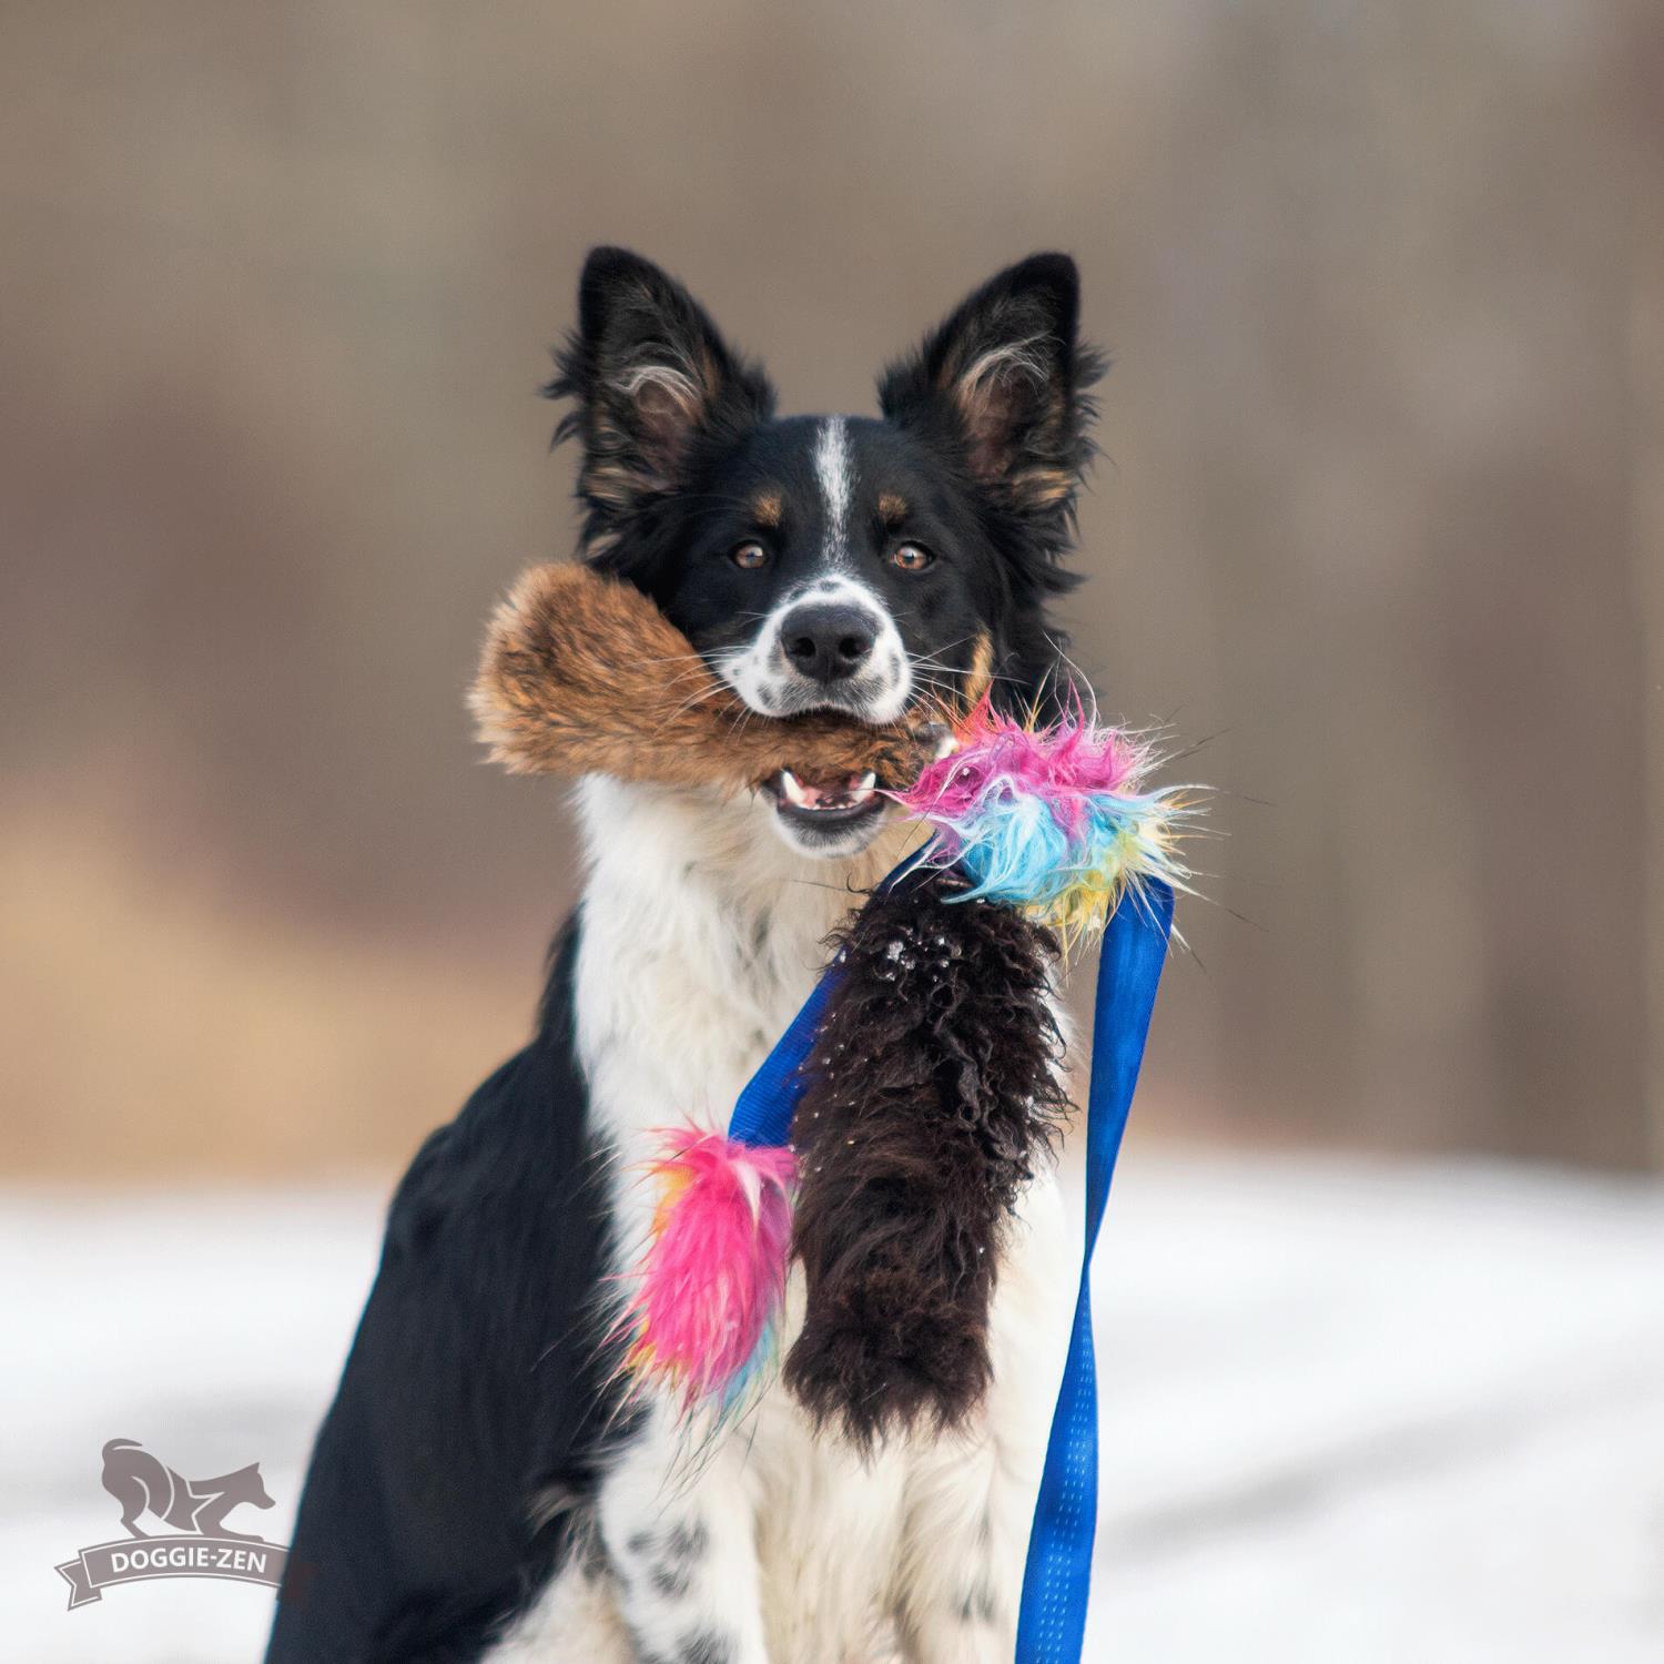
[[[785,1384],[862,1446],[955,1426],[982,1399],[1002,1231],[1068,1107],[1057,943],[952,900],[963,889],[920,874],[842,934],[794,1127],[807,1316]]]

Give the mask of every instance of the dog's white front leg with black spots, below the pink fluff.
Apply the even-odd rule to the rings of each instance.
[[[601,1488],[601,1539],[641,1664],[767,1664],[742,1443],[691,1449],[656,1403]]]

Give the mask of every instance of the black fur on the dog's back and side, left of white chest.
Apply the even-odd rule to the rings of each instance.
[[[567,930],[537,1037],[428,1138],[393,1200],[270,1664],[474,1659],[571,1549],[612,1409],[574,957]]]

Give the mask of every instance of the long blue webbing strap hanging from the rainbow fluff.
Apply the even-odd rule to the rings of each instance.
[[[1173,892],[1151,884],[1128,895],[1103,934],[1093,1003],[1092,1087],[1087,1098],[1087,1253],[1075,1328],[1052,1414],[1045,1476],[1028,1536],[1017,1617],[1017,1664],[1078,1664],[1087,1632],[1092,1541],[1098,1526],[1098,1386],[1092,1354],[1092,1250],[1110,1198],[1143,1062],[1155,990],[1173,927]]]

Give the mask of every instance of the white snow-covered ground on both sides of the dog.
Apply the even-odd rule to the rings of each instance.
[[[286,1536],[379,1208],[0,1196],[0,1656],[258,1657],[260,1587],[53,1564],[120,1534],[110,1438],[258,1461]],[[1664,1659],[1664,1186],[1133,1148],[1097,1280],[1092,1659]]]

